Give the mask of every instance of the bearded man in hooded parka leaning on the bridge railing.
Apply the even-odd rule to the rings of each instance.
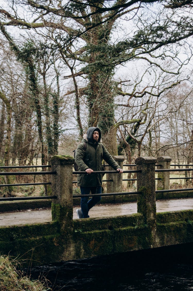
[[[102,159],[104,159],[112,168],[119,173],[123,170],[115,162],[104,145],[100,142],[101,132],[98,127],[89,127],[86,138],[77,147],[75,153],[75,162],[78,165],[78,171],[85,171],[86,174],[77,175],[77,185],[80,186],[82,195],[101,194],[102,174],[95,174],[93,171],[102,171]],[[86,150],[84,143],[86,143]],[[99,201],[101,196],[93,196],[88,201],[87,197],[81,198],[81,209],[77,209],[78,218],[89,217],[89,210]]]

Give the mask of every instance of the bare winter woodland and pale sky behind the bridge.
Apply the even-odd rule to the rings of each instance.
[[[89,126],[129,164],[191,164],[192,11],[190,0],[3,1],[1,166],[73,155]]]

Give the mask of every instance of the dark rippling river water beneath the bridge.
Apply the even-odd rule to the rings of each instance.
[[[54,291],[193,290],[193,244],[73,260],[30,270]]]

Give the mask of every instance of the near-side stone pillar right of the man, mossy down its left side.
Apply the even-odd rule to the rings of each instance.
[[[137,165],[137,212],[144,216],[144,221],[149,228],[149,243],[155,245],[156,235],[156,193],[155,193],[155,164],[154,157],[139,157],[135,160]]]

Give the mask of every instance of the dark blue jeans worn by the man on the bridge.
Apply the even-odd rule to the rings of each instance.
[[[85,187],[85,186],[80,186],[80,191],[82,195],[85,194],[101,194],[101,186],[98,187]],[[88,213],[89,210],[101,200],[101,196],[94,196],[92,197],[89,201],[88,201],[89,197],[81,197],[80,200],[80,206],[82,209],[82,214],[83,214],[83,218],[87,218],[89,217]]]

